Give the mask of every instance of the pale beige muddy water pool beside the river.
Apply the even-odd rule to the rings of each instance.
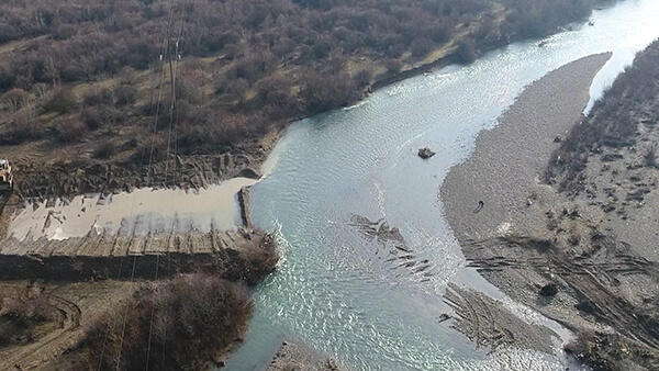
[[[255,180],[234,178],[200,190],[138,189],[32,202],[9,225],[19,240],[66,239],[96,233],[146,235],[155,231],[235,229],[242,225],[236,193]]]

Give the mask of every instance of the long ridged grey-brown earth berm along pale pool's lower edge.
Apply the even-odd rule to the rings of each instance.
[[[90,232],[64,240],[19,241],[8,238],[0,245],[0,280],[48,279],[79,281],[112,278],[121,260],[135,256],[139,277],[150,278],[159,256],[170,257],[171,272],[206,270],[235,274],[242,251],[261,249],[271,238],[267,233],[239,227],[208,233],[160,232],[147,235],[111,235]],[[165,259],[159,268],[165,269]]]

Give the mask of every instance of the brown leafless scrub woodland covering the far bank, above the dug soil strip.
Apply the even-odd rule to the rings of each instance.
[[[583,20],[595,2],[4,1],[0,145],[76,146],[77,168],[163,160],[167,145],[182,155],[245,148],[354,103],[373,80],[447,54],[471,61]]]

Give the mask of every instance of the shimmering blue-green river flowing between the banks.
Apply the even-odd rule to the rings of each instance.
[[[560,357],[516,349],[488,355],[449,322],[438,323],[449,312],[442,297],[449,281],[540,321],[465,268],[438,190],[524,86],[579,57],[613,52],[592,85],[597,98],[659,37],[658,16],[659,1],[624,1],[595,11],[594,26],[577,25],[543,47],[516,43],[293,124],[252,192],[253,218],[278,231],[282,261],[255,290],[245,344],[226,369],[263,369],[283,339],[335,355],[353,370],[561,369]],[[425,146],[437,151],[427,161],[416,156]],[[382,245],[351,225],[353,215],[400,228],[414,259],[431,268],[414,272],[389,261]]]

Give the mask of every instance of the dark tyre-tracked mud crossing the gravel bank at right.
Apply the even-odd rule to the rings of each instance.
[[[538,248],[539,245],[543,248]],[[625,249],[625,246],[604,247],[604,251],[593,257],[572,256],[551,247],[550,241],[522,237],[472,240],[470,247],[473,246],[493,254],[484,258],[468,259],[470,267],[483,272],[535,270],[548,280],[559,282],[565,290],[573,292],[578,301],[577,308],[584,315],[593,316],[625,337],[659,351],[657,307],[640,307],[615,289],[619,286],[616,276],[644,276],[659,284],[658,262],[635,255]],[[515,254],[515,249],[536,254]],[[494,251],[507,254],[498,255]]]

